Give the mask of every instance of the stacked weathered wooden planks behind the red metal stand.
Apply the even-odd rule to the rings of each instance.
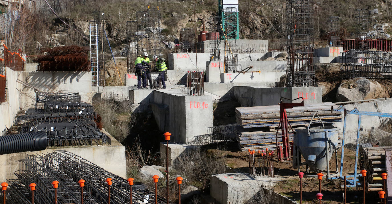
[[[325,124],[341,122],[340,111],[332,111],[333,103],[305,104],[303,107],[286,109],[287,118],[293,128],[307,126],[315,112]],[[236,129],[237,140],[242,151],[248,149],[276,149],[276,132],[278,131],[278,144],[281,144],[281,127],[279,106],[254,106],[236,108],[236,120],[241,127]],[[317,116],[312,124],[321,123]],[[289,141],[292,141],[292,132],[289,128]]]

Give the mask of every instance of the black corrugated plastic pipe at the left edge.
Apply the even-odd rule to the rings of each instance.
[[[24,151],[39,151],[46,149],[47,146],[48,140],[44,132],[4,135],[0,137],[0,155]]]

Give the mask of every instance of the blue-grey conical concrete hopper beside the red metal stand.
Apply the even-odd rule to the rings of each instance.
[[[294,140],[299,149],[300,155],[296,155],[299,161],[302,155],[311,171],[324,171],[332,153],[338,148],[338,129],[333,126],[296,128]]]

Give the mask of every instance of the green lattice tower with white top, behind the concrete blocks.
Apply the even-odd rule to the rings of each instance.
[[[238,0],[218,0],[219,14],[222,19],[222,28],[228,39],[238,40],[240,37],[238,25]]]

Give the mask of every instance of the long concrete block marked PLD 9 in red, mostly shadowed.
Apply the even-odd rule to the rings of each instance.
[[[280,98],[298,98],[303,97],[305,104],[321,103],[321,87],[272,87],[258,88],[250,86],[233,87],[234,97],[237,98],[242,107],[249,106],[271,106],[278,105]],[[300,102],[296,100],[293,102]],[[285,101],[284,102],[288,102]]]

